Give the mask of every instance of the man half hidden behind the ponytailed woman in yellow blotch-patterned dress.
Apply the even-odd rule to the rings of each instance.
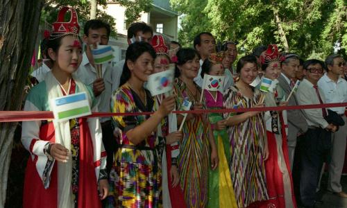
[[[136,41],[148,42],[151,44],[153,36],[153,29],[148,24],[143,21],[134,22],[130,24],[128,28],[128,44],[132,44]],[[112,93],[118,89],[121,73],[123,72],[125,60],[121,60],[117,64],[115,64],[115,70],[112,71]]]

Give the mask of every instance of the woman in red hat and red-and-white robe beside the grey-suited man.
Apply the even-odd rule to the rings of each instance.
[[[265,78],[278,83],[280,76],[280,53],[276,44],[271,44],[260,57]],[[277,82],[276,82],[277,81]],[[285,106],[285,94],[280,85],[271,85],[265,92],[266,107]],[[268,205],[272,207],[296,207],[296,200],[291,179],[285,120],[282,112],[267,111],[264,113],[266,136],[269,147],[269,157],[265,161],[266,185],[269,195]]]

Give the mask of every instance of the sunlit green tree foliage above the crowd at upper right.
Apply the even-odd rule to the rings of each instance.
[[[180,42],[188,46],[201,31],[219,41],[237,40],[244,53],[260,44],[284,51],[274,11],[278,12],[289,50],[303,58],[324,58],[335,42],[346,50],[344,0],[171,0],[182,15]]]

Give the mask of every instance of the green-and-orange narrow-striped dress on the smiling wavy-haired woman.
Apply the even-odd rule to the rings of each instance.
[[[182,80],[176,78],[176,106],[180,109],[185,98],[198,101],[201,89],[193,96]],[[208,205],[208,169],[210,164],[207,116],[196,116],[186,120],[183,125],[183,139],[180,143],[178,166],[180,187],[183,189],[187,207],[207,207]]]

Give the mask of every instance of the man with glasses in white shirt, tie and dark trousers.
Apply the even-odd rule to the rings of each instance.
[[[296,98],[300,105],[325,103],[325,97],[317,86],[323,75],[324,63],[320,60],[307,60],[303,64],[305,78],[298,86]],[[331,132],[337,126],[325,121],[328,112],[325,108],[305,109],[305,119],[309,128],[301,137],[300,160],[300,196],[305,207],[314,207],[316,188],[321,173],[321,167],[331,146]]]

